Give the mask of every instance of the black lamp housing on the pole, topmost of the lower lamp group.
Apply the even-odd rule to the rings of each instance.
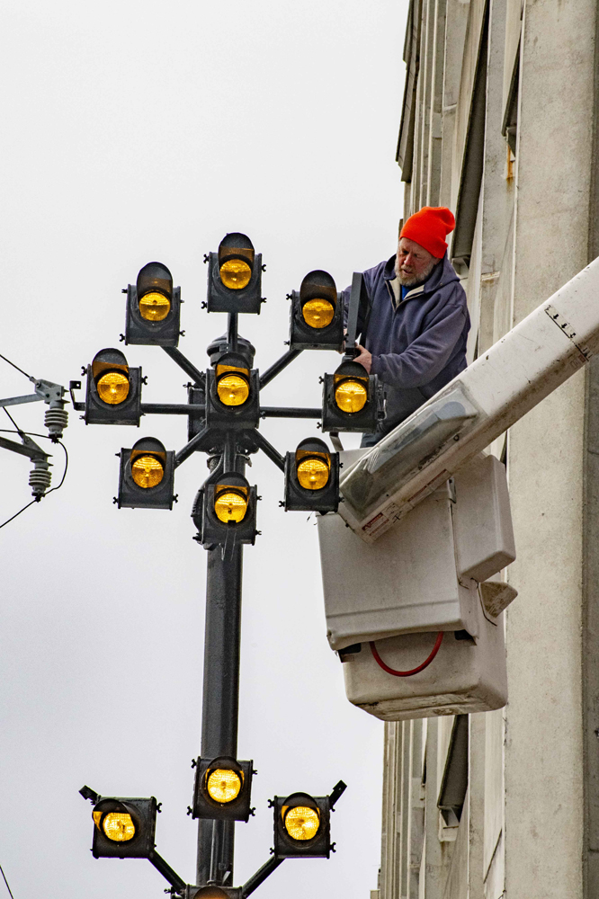
[[[193,787],[194,818],[247,821],[250,816],[253,761],[226,756],[198,759]]]

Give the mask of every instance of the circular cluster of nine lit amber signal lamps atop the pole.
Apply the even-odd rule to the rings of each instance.
[[[259,312],[262,257],[255,254],[249,238],[238,233],[225,236],[208,261],[209,311]],[[342,299],[328,272],[308,272],[291,294],[291,349],[341,350]],[[136,284],[127,288],[125,342],[175,347],[180,310],[181,290],[174,288],[171,272],[163,263],[148,263]],[[190,411],[189,440],[205,429],[216,434],[217,442],[229,431],[241,438],[259,426],[261,417],[254,347],[241,337],[231,346],[223,335],[208,352],[210,368],[203,382],[188,385],[189,404],[203,409]],[[86,373],[85,423],[139,426],[144,414],[141,369],[130,367],[121,350],[107,348],[96,353]],[[323,382],[324,432],[377,429],[384,398],[376,376],[368,375],[348,355]],[[121,449],[119,508],[172,509],[176,464],[174,451],[153,437]],[[220,478],[196,497],[192,517],[204,547],[254,543],[256,491],[239,477]],[[286,511],[335,512],[338,494],[338,455],[324,441],[310,438],[295,453],[287,453],[282,503]]]

